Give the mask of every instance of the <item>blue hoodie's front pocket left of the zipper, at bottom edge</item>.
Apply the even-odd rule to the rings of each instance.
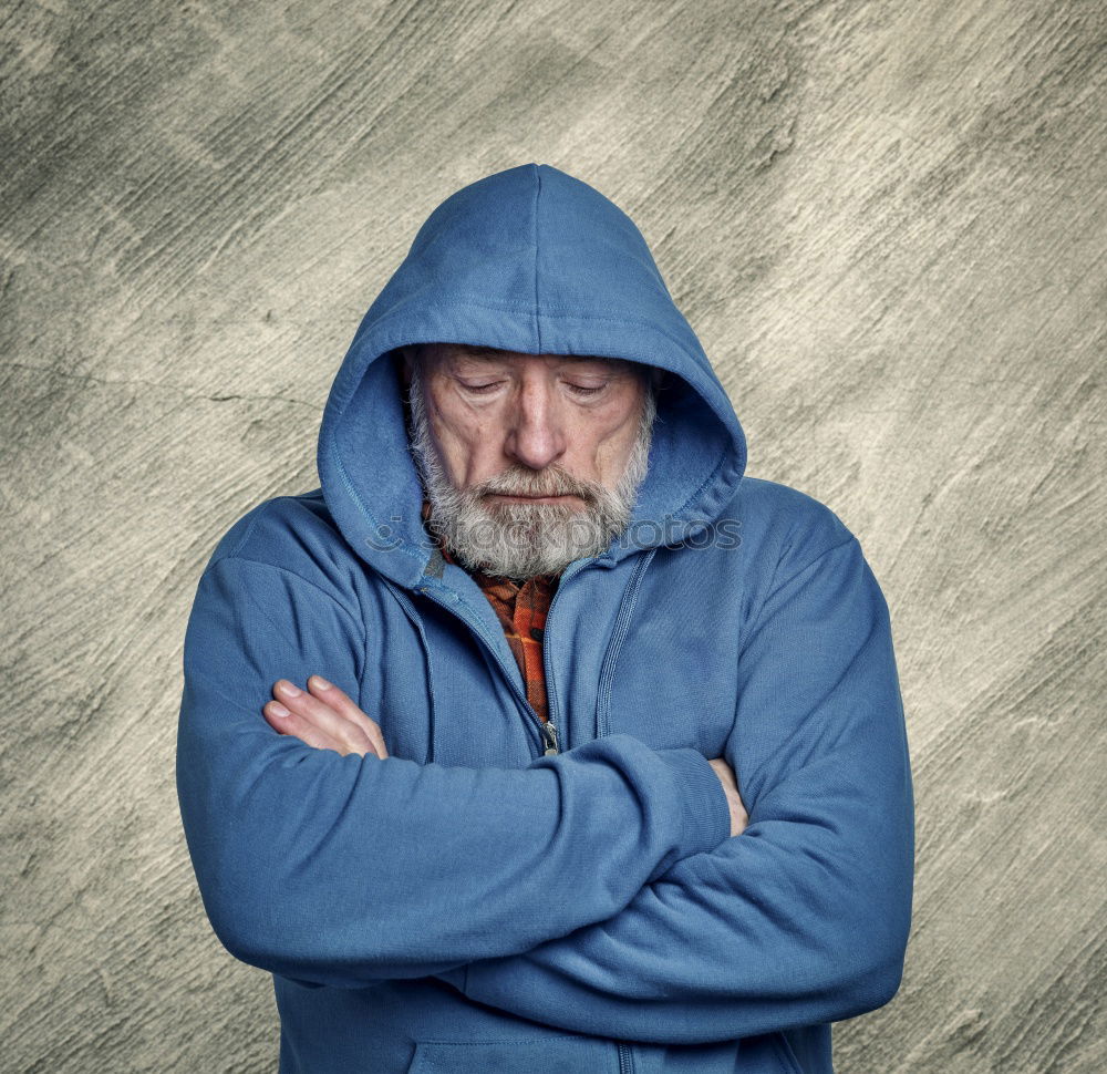
[[[617,1074],[614,1044],[580,1036],[417,1041],[407,1074]]]

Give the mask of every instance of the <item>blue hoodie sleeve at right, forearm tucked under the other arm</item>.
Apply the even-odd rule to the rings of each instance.
[[[609,920],[448,974],[469,998],[696,1044],[840,1021],[896,993],[914,807],[888,608],[852,537],[776,578],[742,647],[726,747],[748,827]]]

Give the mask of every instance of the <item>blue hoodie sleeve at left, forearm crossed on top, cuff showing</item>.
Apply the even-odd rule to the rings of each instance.
[[[318,671],[356,698],[366,651],[360,618],[287,569],[225,556],[200,578],[177,795],[236,958],[308,985],[423,977],[603,920],[727,838],[725,795],[694,750],[615,735],[527,768],[465,768],[343,756],[266,722],[280,678]]]

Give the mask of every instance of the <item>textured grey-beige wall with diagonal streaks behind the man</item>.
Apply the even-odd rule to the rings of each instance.
[[[426,214],[537,161],[888,597],[915,926],[838,1070],[1107,1068],[1105,3],[229,7],[0,14],[0,1066],[275,1070],[177,813],[196,580]]]

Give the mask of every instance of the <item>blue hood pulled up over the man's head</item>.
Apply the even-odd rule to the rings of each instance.
[[[343,536],[404,586],[436,549],[407,448],[391,352],[472,343],[528,354],[587,354],[674,374],[658,394],[649,469],[629,526],[602,559],[693,538],[745,471],[742,426],[700,341],[630,217],[548,164],[498,172],[452,194],[361,321],[331,385],[319,478]]]

